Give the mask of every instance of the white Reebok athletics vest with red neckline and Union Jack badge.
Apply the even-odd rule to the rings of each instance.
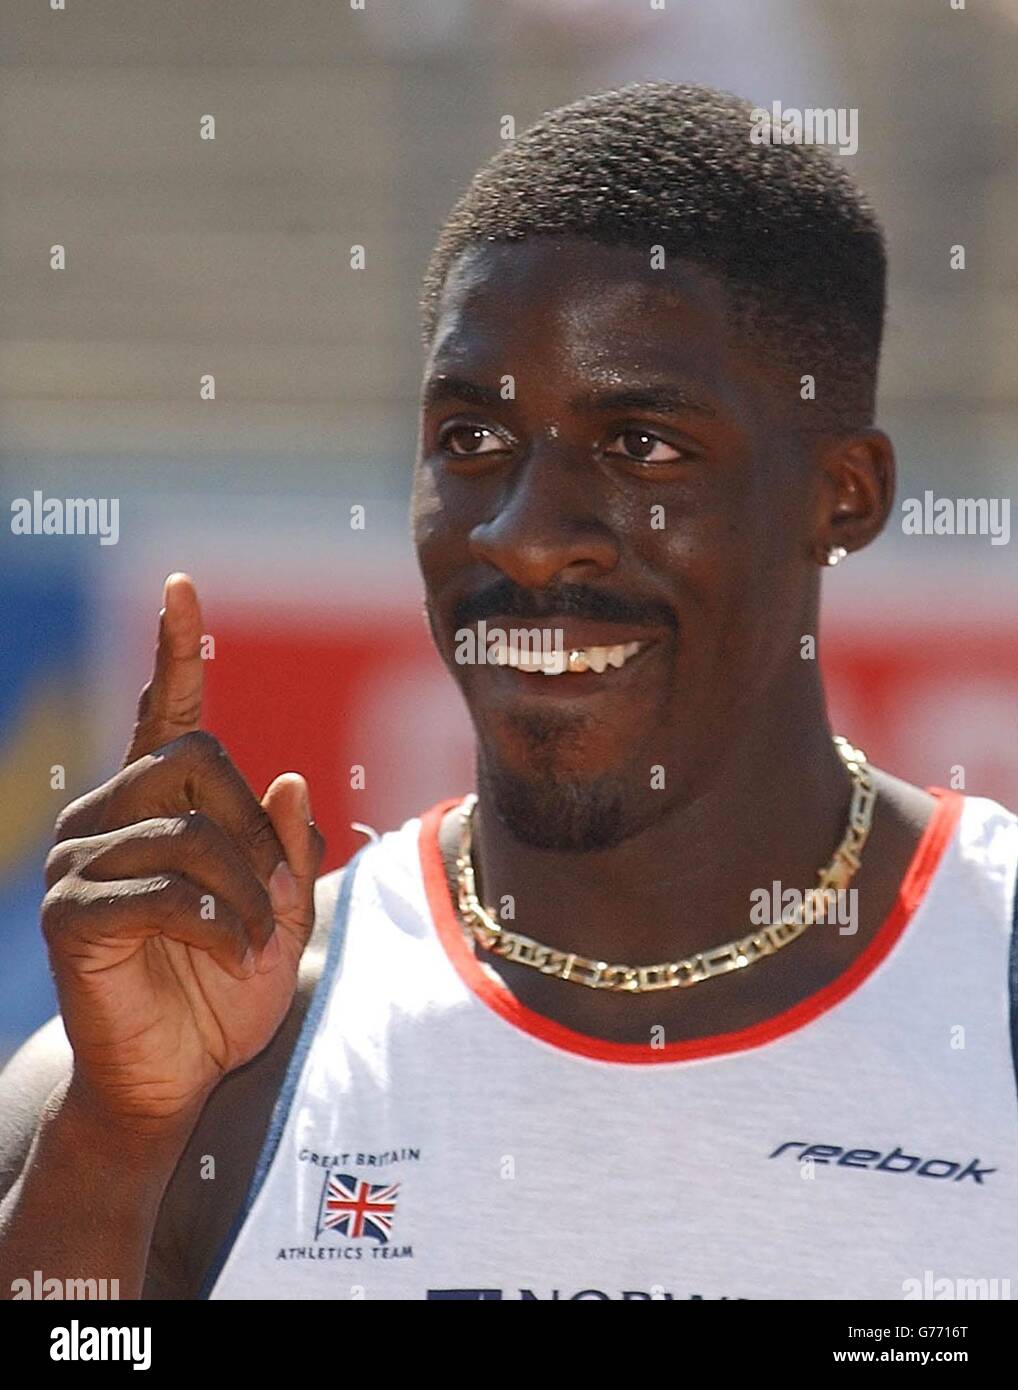
[[[661,1048],[551,1023],[477,962],[438,849],[455,801],[364,847],[203,1293],[1018,1297],[1018,820],[936,795],[843,976]]]

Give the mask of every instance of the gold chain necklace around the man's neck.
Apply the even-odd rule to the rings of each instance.
[[[764,956],[773,955],[790,941],[802,935],[805,929],[815,920],[825,920],[827,908],[836,901],[834,894],[847,888],[855,870],[859,867],[862,847],[869,835],[873,823],[873,806],[876,791],[866,766],[866,755],[861,748],[841,738],[834,737],[834,746],[848,769],[853,780],[853,799],[848,808],[848,828],[841,844],[834,851],[830,863],[816,874],[815,888],[807,888],[802,895],[802,905],[794,912],[782,913],[782,920],[770,926],[761,927],[752,935],[741,937],[736,941],[726,941],[725,945],[713,947],[711,951],[701,951],[684,960],[666,960],[662,965],[608,965],[606,960],[590,960],[576,955],[573,951],[556,951],[554,947],[544,947],[530,937],[520,935],[519,931],[508,931],[495,916],[481,903],[477,897],[474,866],[471,859],[473,847],[473,813],[477,806],[477,796],[471,792],[460,809],[462,827],[459,838],[459,855],[456,858],[456,885],[459,890],[459,912],[463,919],[463,931],[471,945],[480,945],[485,951],[503,956],[506,960],[516,960],[519,965],[533,966],[542,974],[554,976],[559,980],[572,980],[574,984],[585,984],[591,990],[623,990],[630,994],[644,994],[649,990],[686,988],[709,980],[716,974],[727,974],[729,970],[741,970],[755,965]]]

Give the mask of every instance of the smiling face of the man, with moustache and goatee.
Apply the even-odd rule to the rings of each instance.
[[[517,838],[617,844],[793,713],[818,592],[797,409],[798,384],[751,360],[725,291],[691,265],[573,238],[453,265],[414,541],[478,777]],[[458,660],[480,619],[560,630],[594,666],[640,645],[602,671]]]

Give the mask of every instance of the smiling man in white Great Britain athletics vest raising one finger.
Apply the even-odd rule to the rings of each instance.
[[[259,803],[200,730],[197,599],[167,582],[125,767],[47,866],[63,1027],[4,1083],[0,1286],[1018,1273],[1018,823],[832,738],[805,639],[891,506],[883,243],[833,160],[752,124],[670,83],[577,101],[442,232],[413,523],[476,806],[316,887],[303,778]]]

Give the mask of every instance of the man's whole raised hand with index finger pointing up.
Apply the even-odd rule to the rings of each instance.
[[[202,730],[192,581],[170,575],[163,600],[124,769],[60,815],[42,912],[75,1098],[156,1130],[193,1126],[280,1027],[324,849],[303,777],[259,802]]]

